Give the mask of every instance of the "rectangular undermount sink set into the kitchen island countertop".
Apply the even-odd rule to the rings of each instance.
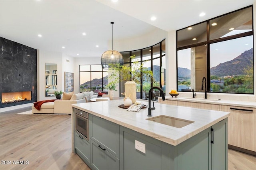
[[[194,121],[188,121],[188,120],[185,120],[185,119],[178,119],[178,118],[175,118],[175,117],[169,117],[169,116],[165,116],[165,115],[160,115],[160,116],[148,118],[146,120],[153,121],[153,122],[156,122],[156,123],[162,123],[164,125],[168,125],[168,126],[172,126],[172,127],[176,127],[176,128],[182,128],[182,127],[187,126],[191,123],[194,123]]]

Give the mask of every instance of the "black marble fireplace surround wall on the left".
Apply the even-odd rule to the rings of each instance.
[[[37,101],[37,50],[0,37],[0,108]],[[2,93],[31,91],[31,100],[2,103]]]

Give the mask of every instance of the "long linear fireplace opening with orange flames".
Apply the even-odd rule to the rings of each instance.
[[[21,101],[30,101],[30,100],[31,100],[31,91],[2,93],[2,104],[3,105],[21,102]]]

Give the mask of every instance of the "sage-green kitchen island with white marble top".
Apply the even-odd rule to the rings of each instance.
[[[148,101],[140,101],[148,105]],[[227,169],[228,112],[155,103],[128,112],[123,100],[74,104],[72,149],[92,169]],[[89,140],[75,130],[74,113],[89,113]],[[165,125],[154,117],[188,125]]]

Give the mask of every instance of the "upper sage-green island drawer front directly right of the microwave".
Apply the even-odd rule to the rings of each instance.
[[[119,125],[91,115],[91,139],[119,158]]]

